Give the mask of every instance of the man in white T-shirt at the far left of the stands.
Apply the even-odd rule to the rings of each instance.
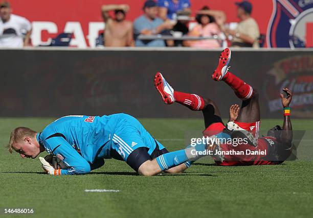
[[[28,19],[12,14],[10,3],[0,3],[0,47],[23,47],[30,44],[32,26]]]

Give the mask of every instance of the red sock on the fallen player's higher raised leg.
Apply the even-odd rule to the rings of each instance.
[[[243,101],[250,99],[253,95],[253,88],[231,72],[227,72],[223,81],[226,82],[235,91],[237,97]]]

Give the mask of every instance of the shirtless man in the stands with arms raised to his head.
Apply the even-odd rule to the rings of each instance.
[[[105,22],[104,46],[133,46],[132,22],[125,20],[128,5],[103,5],[102,17]],[[114,11],[115,17],[109,15]]]

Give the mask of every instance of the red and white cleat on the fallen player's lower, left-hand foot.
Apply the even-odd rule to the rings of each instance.
[[[166,82],[160,72],[157,72],[154,77],[154,86],[160,92],[165,104],[172,104],[175,102],[174,89]]]

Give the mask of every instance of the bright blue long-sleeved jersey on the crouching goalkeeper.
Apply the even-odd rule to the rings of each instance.
[[[61,175],[85,174],[110,157],[110,143],[121,114],[61,117],[37,134],[40,146],[60,158],[68,169]]]

